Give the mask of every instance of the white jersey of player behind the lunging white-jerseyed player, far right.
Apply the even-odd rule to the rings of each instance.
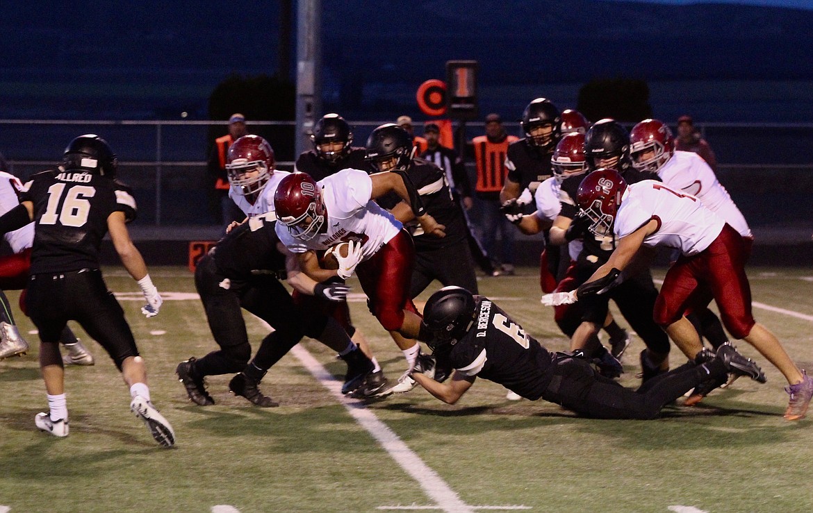
[[[658,170],[658,176],[676,191],[697,196],[703,206],[724,218],[743,237],[751,236],[746,218],[711,167],[697,153],[676,151]]]

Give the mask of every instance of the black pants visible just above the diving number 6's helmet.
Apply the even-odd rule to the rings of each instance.
[[[426,290],[433,280],[441,282],[443,287],[456,285],[472,294],[478,294],[474,260],[465,240],[446,248],[415,250],[410,297],[414,299]]]

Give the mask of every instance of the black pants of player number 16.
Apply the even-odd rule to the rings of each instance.
[[[77,321],[121,370],[128,356],[138,356],[133,331],[99,269],[33,274],[28,278],[25,308],[42,343],[59,343],[67,321]]]

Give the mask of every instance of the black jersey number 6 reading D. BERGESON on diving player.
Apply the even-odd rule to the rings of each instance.
[[[499,383],[525,399],[539,399],[550,383],[555,355],[491,300],[482,295],[474,299],[476,317],[451,348],[452,367]]]

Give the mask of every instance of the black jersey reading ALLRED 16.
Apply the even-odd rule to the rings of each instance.
[[[34,205],[31,274],[98,269],[107,218],[136,217],[136,200],[116,180],[85,170],[50,170],[33,175],[21,201]]]

